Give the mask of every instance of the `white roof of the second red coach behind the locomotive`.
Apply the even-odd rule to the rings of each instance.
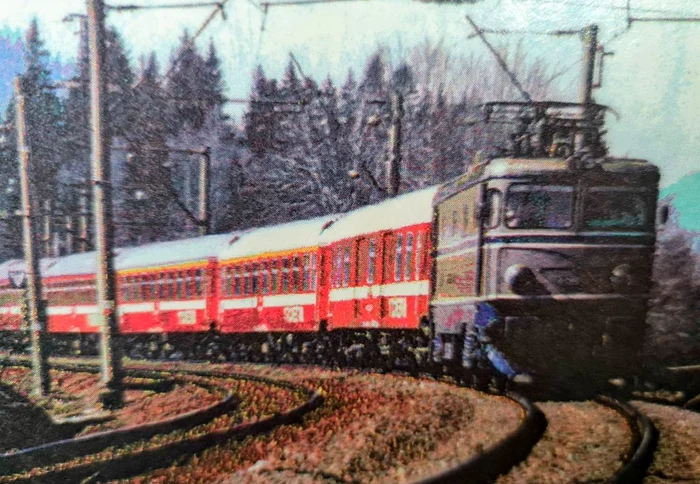
[[[319,244],[319,235],[338,215],[325,215],[250,229],[219,253],[219,260],[239,259],[268,252],[285,252]]]

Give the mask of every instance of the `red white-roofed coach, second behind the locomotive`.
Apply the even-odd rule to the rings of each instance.
[[[337,216],[252,229],[219,255],[223,333],[318,328],[319,235]]]

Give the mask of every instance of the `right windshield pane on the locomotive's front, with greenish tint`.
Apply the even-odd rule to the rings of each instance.
[[[586,192],[583,220],[589,229],[635,229],[647,224],[644,193],[620,187],[595,187]]]

